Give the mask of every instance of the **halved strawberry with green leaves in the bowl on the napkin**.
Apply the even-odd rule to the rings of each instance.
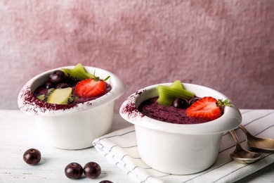
[[[186,109],[185,113],[188,117],[203,118],[205,120],[216,120],[223,111],[221,106],[232,106],[229,99],[226,101],[217,101],[211,96],[205,96],[193,103],[189,108]]]

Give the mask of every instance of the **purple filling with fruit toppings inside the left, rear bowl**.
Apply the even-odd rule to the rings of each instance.
[[[40,101],[52,104],[76,104],[91,101],[110,92],[112,87],[104,80],[86,72],[81,63],[74,68],[61,68],[49,75],[48,80],[34,91]]]

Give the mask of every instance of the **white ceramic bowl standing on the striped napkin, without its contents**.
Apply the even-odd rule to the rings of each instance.
[[[129,96],[120,108],[122,118],[133,123],[138,152],[144,163],[160,172],[188,175],[206,170],[218,158],[223,132],[235,129],[242,122],[240,111],[226,107],[223,115],[201,124],[173,124],[154,120],[137,108],[145,100],[157,96],[159,84],[145,87]],[[162,85],[169,86],[171,83]],[[220,92],[197,84],[183,83],[196,96],[227,99]]]

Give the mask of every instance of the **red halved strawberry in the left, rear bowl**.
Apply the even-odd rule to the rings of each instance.
[[[89,78],[81,80],[75,86],[75,94],[83,98],[98,96],[105,92],[106,85],[103,80],[96,80],[96,78]]]

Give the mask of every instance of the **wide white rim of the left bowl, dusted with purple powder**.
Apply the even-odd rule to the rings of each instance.
[[[96,67],[92,67],[92,66],[83,65],[83,67],[86,70],[96,70],[96,73],[104,72],[105,75],[107,75],[107,76],[109,75],[110,78],[106,82],[108,82],[108,83],[111,82],[112,89],[110,90],[110,92],[107,92],[107,94],[100,96],[98,99],[94,99],[92,101],[86,101],[84,103],[77,103],[72,108],[65,108],[65,109],[61,109],[61,110],[53,110],[50,108],[38,106],[37,103],[30,103],[30,102],[25,101],[24,96],[26,94],[29,94],[30,92],[31,93],[34,92],[34,91],[32,91],[32,84],[34,83],[34,81],[38,80],[39,78],[41,78],[45,75],[50,75],[51,72],[53,72],[54,70],[60,70],[61,68],[72,69],[74,67],[75,67],[75,65],[54,68],[51,70],[47,70],[45,72],[41,72],[39,75],[32,77],[32,79],[30,79],[22,87],[22,89],[20,90],[20,92],[18,94],[18,107],[20,108],[20,110],[24,113],[29,114],[29,115],[39,115],[39,116],[67,115],[67,114],[71,114],[71,113],[79,113],[82,111],[89,110],[91,108],[96,108],[97,106],[100,106],[103,103],[115,101],[115,99],[118,99],[120,96],[122,96],[122,94],[124,94],[124,92],[126,92],[126,86],[125,86],[124,82],[122,82],[122,80],[120,80],[119,77],[117,77],[117,75],[113,74],[110,71],[104,70],[102,68],[96,68]],[[96,76],[100,77],[100,74],[96,75]],[[52,104],[52,105],[56,105],[56,104]]]

